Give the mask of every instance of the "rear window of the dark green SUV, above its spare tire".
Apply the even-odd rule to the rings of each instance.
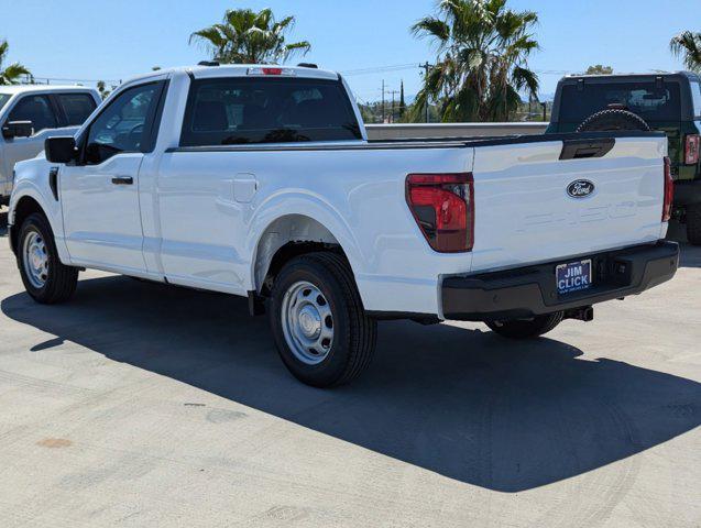
[[[645,121],[679,121],[679,82],[591,82],[566,85],[560,98],[560,122],[581,123],[592,113],[622,108]]]

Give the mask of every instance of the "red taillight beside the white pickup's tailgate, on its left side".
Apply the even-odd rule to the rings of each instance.
[[[434,250],[441,253],[472,250],[472,173],[409,174],[406,178],[406,201]]]

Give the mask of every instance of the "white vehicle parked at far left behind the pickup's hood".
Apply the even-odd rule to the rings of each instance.
[[[10,199],[14,164],[36,156],[46,138],[75,133],[100,102],[81,86],[0,86],[0,205]]]

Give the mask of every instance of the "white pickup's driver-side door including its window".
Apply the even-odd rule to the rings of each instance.
[[[139,170],[151,155],[165,81],[125,88],[78,139],[78,162],[61,169],[66,245],[74,264],[145,270]]]

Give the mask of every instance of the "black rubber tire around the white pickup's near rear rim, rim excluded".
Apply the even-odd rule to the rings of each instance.
[[[332,315],[333,337],[328,352],[317,364],[302,361],[285,337],[284,321],[288,320],[283,316],[285,294],[300,283],[318,288]],[[300,382],[315,387],[342,385],[355,380],[370,365],[377,324],[365,314],[353,274],[343,256],[319,252],[289,261],[275,278],[269,312],[280,355]]]

